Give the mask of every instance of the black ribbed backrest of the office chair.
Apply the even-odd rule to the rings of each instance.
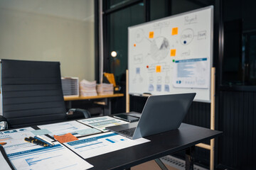
[[[65,120],[60,62],[1,60],[1,94],[11,128]]]

